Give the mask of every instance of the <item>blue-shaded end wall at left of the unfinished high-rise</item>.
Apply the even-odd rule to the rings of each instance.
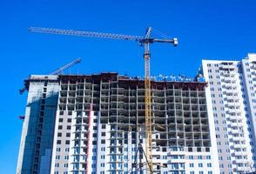
[[[57,76],[31,76],[17,174],[49,173],[59,84]]]

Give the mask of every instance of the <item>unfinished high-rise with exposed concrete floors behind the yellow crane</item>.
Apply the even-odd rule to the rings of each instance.
[[[134,166],[137,173],[138,144],[145,150],[144,85],[117,73],[30,76],[17,173],[128,174]],[[219,173],[206,85],[152,80],[154,173]]]

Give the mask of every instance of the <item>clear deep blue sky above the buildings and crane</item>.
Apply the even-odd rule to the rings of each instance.
[[[37,2],[37,3],[36,3]],[[70,3],[67,3],[70,2]],[[194,76],[202,58],[239,59],[256,52],[256,1],[0,1],[0,173],[13,174],[30,74],[56,70],[76,57],[67,73],[118,71],[143,76],[138,43],[29,33],[30,26],[144,35],[152,26],[179,38],[179,47],[152,45],[152,74]]]

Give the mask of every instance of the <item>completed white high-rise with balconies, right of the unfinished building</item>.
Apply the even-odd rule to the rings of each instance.
[[[209,83],[221,174],[252,172],[256,167],[256,55],[241,61],[203,60]],[[210,109],[210,108],[209,108]]]

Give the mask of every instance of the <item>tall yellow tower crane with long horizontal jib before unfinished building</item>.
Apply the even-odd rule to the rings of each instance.
[[[140,46],[144,46],[145,59],[145,153],[149,161],[147,171],[152,171],[152,104],[151,104],[151,76],[150,76],[150,44],[151,43],[172,43],[174,46],[178,45],[178,39],[158,39],[151,37],[152,28],[146,30],[145,37],[131,36],[124,34],[102,33],[83,30],[61,30],[53,28],[30,27],[30,32],[48,33],[57,35],[69,35],[76,37],[100,37],[109,39],[121,39],[137,41]],[[148,170],[149,167],[149,170]]]

